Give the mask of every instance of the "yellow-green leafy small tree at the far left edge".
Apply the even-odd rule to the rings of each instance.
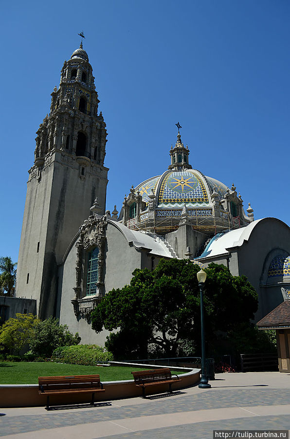
[[[17,313],[16,318],[10,317],[0,328],[0,343],[9,349],[11,354],[20,355],[21,349],[33,336],[38,322],[39,319],[33,314]]]

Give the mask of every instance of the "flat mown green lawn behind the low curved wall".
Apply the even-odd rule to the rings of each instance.
[[[37,384],[38,377],[63,375],[94,375],[99,374],[101,381],[118,381],[133,379],[132,371],[144,370],[145,367],[121,366],[79,366],[61,363],[0,363],[0,384]],[[182,373],[182,372],[174,372]]]

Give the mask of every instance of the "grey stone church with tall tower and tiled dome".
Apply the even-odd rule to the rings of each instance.
[[[132,186],[120,213],[116,206],[106,210],[107,131],[98,104],[81,43],[64,62],[50,113],[36,132],[17,297],[36,299],[40,318],[58,317],[82,343],[99,344],[107,334],[91,329],[91,310],[129,283],[135,268],[153,270],[161,258],[221,263],[245,275],[259,296],[256,320],[290,299],[289,226],[254,220],[234,184],[193,169],[179,123],[160,175]]]

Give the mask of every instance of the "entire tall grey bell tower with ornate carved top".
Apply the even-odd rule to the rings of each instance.
[[[49,115],[36,131],[17,270],[17,297],[37,300],[38,315],[55,315],[58,264],[88,218],[95,198],[105,213],[106,123],[98,112],[92,67],[80,47],[64,61]],[[75,276],[75,273],[72,273]]]

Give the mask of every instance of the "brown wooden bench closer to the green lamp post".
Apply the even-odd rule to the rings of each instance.
[[[134,377],[136,386],[142,387],[143,398],[145,398],[145,388],[148,386],[156,386],[158,384],[169,384],[169,392],[172,393],[171,385],[173,382],[181,381],[178,375],[171,374],[169,368],[164,369],[152,369],[152,370],[141,370],[138,372],[131,372]]]

